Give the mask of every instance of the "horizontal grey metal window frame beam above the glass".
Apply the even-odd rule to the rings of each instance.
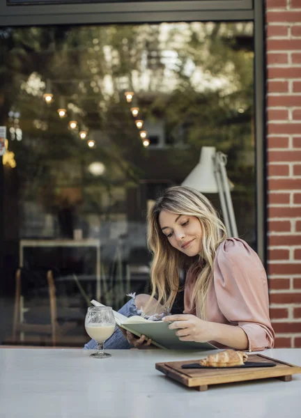
[[[49,0],[51,1],[51,0]],[[124,1],[12,6],[0,0],[0,26],[252,20],[252,0]]]

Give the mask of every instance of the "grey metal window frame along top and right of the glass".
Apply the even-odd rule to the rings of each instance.
[[[6,0],[0,0],[0,26],[253,21],[255,52],[256,244],[258,255],[261,261],[266,264],[264,8],[265,1],[263,0],[141,1],[139,3],[137,1],[84,3],[83,1],[75,4],[34,6],[11,6],[6,3]],[[3,194],[3,191],[3,168],[0,167],[0,195]],[[0,199],[0,215],[3,213],[1,201],[2,199]],[[3,217],[0,217],[0,247],[4,232],[1,219]]]

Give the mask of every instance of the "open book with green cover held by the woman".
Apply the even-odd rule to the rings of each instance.
[[[91,300],[91,304],[95,307],[103,307],[105,305]],[[169,350],[215,350],[217,347],[210,343],[195,343],[194,341],[180,341],[176,336],[176,330],[169,330],[169,323],[162,320],[151,321],[141,316],[126,316],[113,311],[116,324],[132,332],[136,336],[145,335],[152,340],[152,343],[160,348],[168,348]]]

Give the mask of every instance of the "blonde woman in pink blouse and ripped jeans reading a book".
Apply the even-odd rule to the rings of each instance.
[[[132,316],[137,307],[147,314],[173,313],[183,294],[180,272],[186,271],[183,314],[163,318],[179,339],[249,351],[274,346],[263,265],[245,241],[226,238],[224,224],[203,194],[190,187],[167,189],[148,215],[148,247],[151,297],[138,295],[121,313]],[[125,336],[129,348],[151,344],[144,336]],[[121,338],[121,331],[115,332],[107,348],[125,348],[124,342],[116,346],[126,341]]]

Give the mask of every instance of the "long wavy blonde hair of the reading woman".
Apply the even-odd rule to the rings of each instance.
[[[201,223],[202,248],[199,256],[189,257],[171,246],[162,233],[159,215],[162,210],[175,215],[194,216]],[[157,199],[148,213],[148,248],[153,252],[151,266],[151,296],[157,296],[163,310],[169,309],[178,292],[180,270],[199,268],[192,292],[192,304],[196,316],[206,319],[205,301],[210,279],[213,277],[213,261],[219,244],[226,239],[226,228],[206,196],[192,187],[170,187]]]

